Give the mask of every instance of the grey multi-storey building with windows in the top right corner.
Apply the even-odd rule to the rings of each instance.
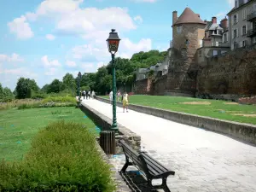
[[[256,44],[256,0],[234,0],[230,18],[230,47],[237,49]]]

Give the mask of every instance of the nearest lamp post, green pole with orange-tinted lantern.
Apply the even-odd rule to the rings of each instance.
[[[115,79],[115,64],[114,64],[114,55],[119,49],[119,35],[115,32],[115,29],[112,29],[109,32],[109,37],[107,39],[108,51],[111,53],[112,58],[112,75],[113,75],[113,131],[118,131],[117,120],[116,120],[116,79]]]

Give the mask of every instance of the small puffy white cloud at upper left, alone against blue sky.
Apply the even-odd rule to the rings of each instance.
[[[9,22],[8,26],[10,32],[14,33],[19,39],[32,38],[34,35],[28,22],[26,22],[26,17],[23,15]]]

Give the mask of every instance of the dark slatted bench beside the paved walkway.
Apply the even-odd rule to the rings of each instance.
[[[164,189],[166,192],[171,192],[166,184],[166,179],[175,172],[168,170],[160,162],[150,157],[147,152],[140,152],[133,150],[124,140],[119,140],[119,145],[123,148],[125,154],[125,165],[120,172],[125,173],[128,166],[136,166],[138,170],[143,173],[143,176],[148,181],[149,191],[152,189]],[[153,179],[162,179],[160,185],[153,185]]]

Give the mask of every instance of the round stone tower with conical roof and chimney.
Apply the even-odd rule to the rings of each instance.
[[[166,95],[194,96],[195,78],[189,69],[195,65],[196,49],[201,47],[206,22],[191,9],[184,9],[177,17],[172,13],[172,56],[169,64]]]

